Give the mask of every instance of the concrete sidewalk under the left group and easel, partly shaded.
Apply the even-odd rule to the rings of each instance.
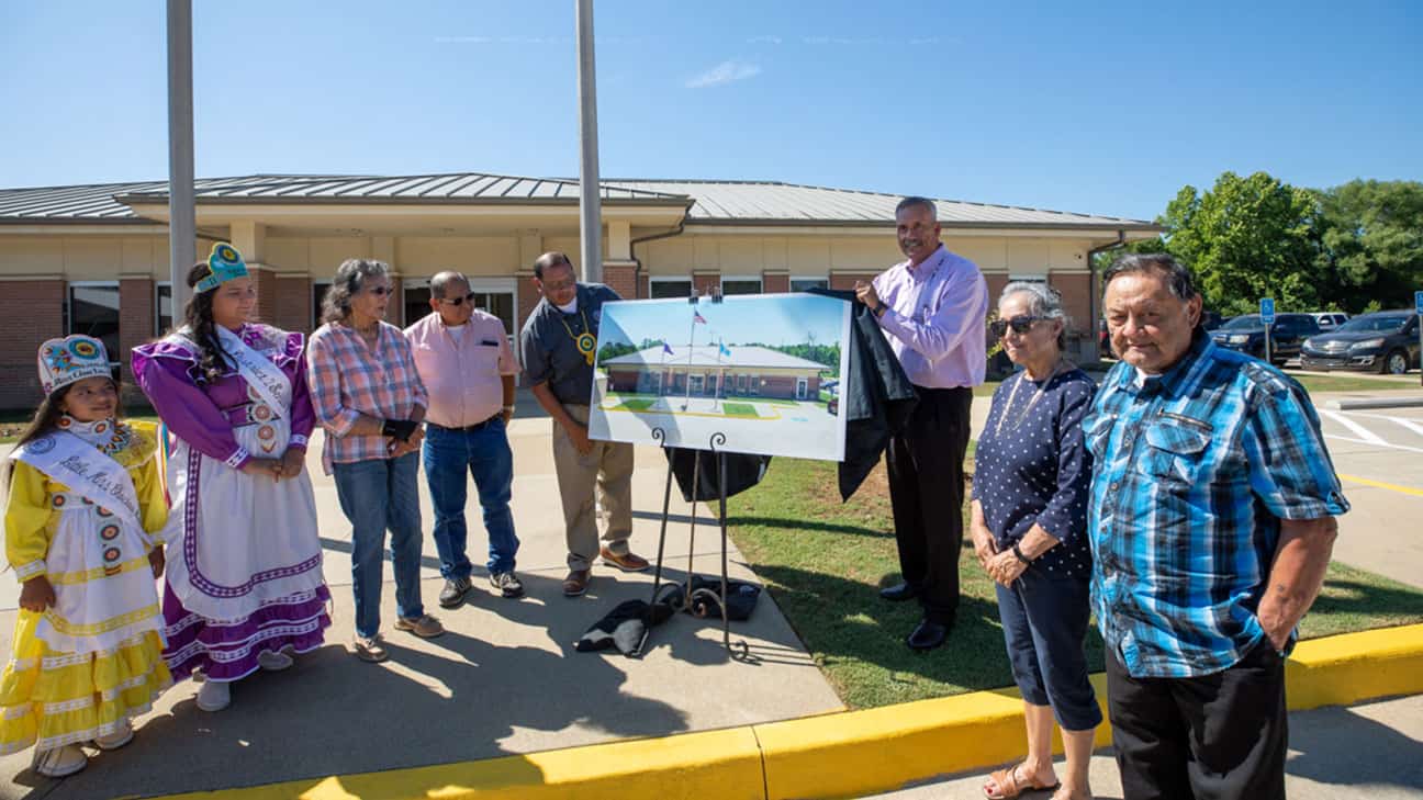
[[[427,609],[448,632],[420,641],[391,629],[394,584],[387,559],[381,598],[391,658],[367,665],[349,655],[351,638],[350,530],[330,478],[320,474],[319,447],[309,458],[316,487],[324,571],[333,594],[326,646],[282,673],[258,673],[235,685],[233,703],[216,715],[198,710],[196,686],[184,682],[138,720],[128,747],[100,754],[63,781],[30,769],[30,752],[0,759],[0,799],[92,800],[487,759],[635,736],[740,726],[840,710],[842,705],[805,653],[770,596],[751,621],[733,623],[750,659],[730,660],[720,621],[677,615],[656,628],[640,660],[578,653],[573,642],[613,605],[646,599],[652,572],[622,574],[598,565],[583,598],[562,595],[566,571],[562,511],[549,446],[551,421],[511,424],[514,517],[522,540],[518,571],[528,595],[509,601],[488,594],[477,568],[474,599],[438,608],[443,581],[428,531],[433,512],[421,487],[425,525],[423,592]],[[633,478],[632,544],[656,555],[666,461],[639,448]],[[421,481],[424,475],[421,475]],[[484,561],[485,538],[471,484],[470,555]],[[719,574],[720,542],[710,514],[696,530],[702,574]],[[673,491],[667,532],[669,578],[686,574],[687,504]],[[750,578],[734,545],[731,575]],[[0,577],[0,629],[14,628],[18,589]],[[0,659],[10,656],[10,636]]]

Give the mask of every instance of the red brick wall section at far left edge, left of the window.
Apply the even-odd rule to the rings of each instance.
[[[46,339],[64,336],[64,280],[0,283],[0,409],[38,406],[36,356]]]

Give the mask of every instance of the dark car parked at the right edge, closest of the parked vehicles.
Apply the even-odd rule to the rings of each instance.
[[[1419,366],[1419,317],[1413,312],[1359,315],[1329,333],[1311,336],[1299,366],[1403,374]]]

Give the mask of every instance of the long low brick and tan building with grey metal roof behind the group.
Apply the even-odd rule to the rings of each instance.
[[[578,182],[484,174],[253,175],[196,182],[198,253],[231,241],[252,269],[260,316],[312,330],[342,260],[386,260],[397,325],[428,309],[430,276],[457,269],[509,333],[534,309],[531,265],[576,260]],[[602,182],[603,280],[625,298],[851,288],[901,260],[898,196],[776,182]],[[1094,249],[1154,236],[1141,221],[938,201],[949,249],[983,269],[989,290],[1046,280],[1077,329],[1096,317]],[[172,320],[166,182],[0,189],[0,409],[38,399],[40,342],[91,333],[115,366]],[[1093,357],[1090,335],[1079,354]]]

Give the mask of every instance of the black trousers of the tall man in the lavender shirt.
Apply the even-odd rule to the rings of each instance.
[[[899,572],[918,586],[924,615],[952,623],[963,548],[963,454],[973,390],[915,386],[919,404],[889,440],[889,502]]]

